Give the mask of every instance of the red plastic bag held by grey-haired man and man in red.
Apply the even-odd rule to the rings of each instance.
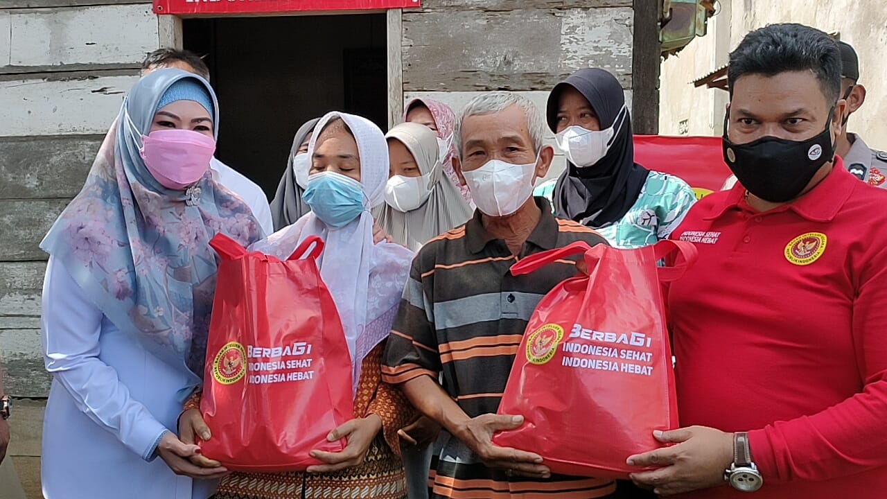
[[[679,250],[681,265],[656,262]],[[502,447],[535,452],[555,473],[626,478],[629,455],[661,447],[654,430],[678,427],[661,282],[695,261],[695,246],[663,241],[640,249],[574,242],[523,258],[531,273],[585,253],[589,275],[561,282],[536,308],[508,376],[498,414],[524,416],[494,435]]]

